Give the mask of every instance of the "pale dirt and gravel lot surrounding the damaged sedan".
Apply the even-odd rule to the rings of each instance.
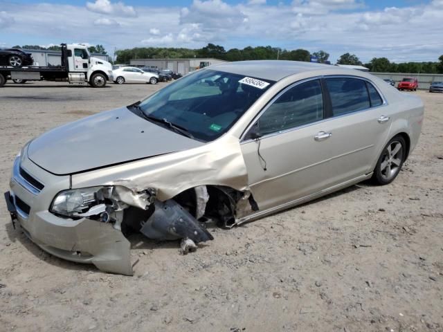
[[[163,85],[7,84],[1,192],[31,138]],[[187,256],[134,236],[134,277],[46,254],[12,229],[2,197],[0,331],[443,331],[443,94],[417,95],[423,133],[391,185],[210,230]]]

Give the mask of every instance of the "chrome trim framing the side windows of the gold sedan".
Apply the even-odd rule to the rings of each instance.
[[[285,92],[288,91],[289,89],[292,89],[293,86],[296,86],[296,85],[298,85],[298,84],[302,84],[302,83],[305,83],[305,82],[309,82],[309,81],[311,81],[311,80],[320,80],[320,79],[322,79],[322,78],[323,78],[323,79],[327,79],[327,78],[355,78],[355,79],[364,80],[364,81],[366,81],[366,82],[369,82],[370,84],[372,84],[372,86],[374,86],[374,89],[379,93],[380,98],[381,98],[381,100],[383,101],[383,103],[382,103],[381,105],[379,105],[379,106],[369,107],[369,108],[367,108],[367,109],[360,109],[359,111],[354,111],[354,112],[350,112],[350,113],[345,113],[345,114],[342,114],[341,116],[332,116],[332,117],[330,117],[330,118],[323,118],[322,120],[318,120],[318,121],[316,121],[316,122],[311,122],[311,123],[307,123],[307,124],[302,124],[301,126],[298,126],[298,127],[293,127],[293,128],[289,128],[289,129],[285,129],[285,130],[281,130],[281,131],[275,131],[275,133],[268,133],[268,134],[266,134],[266,135],[260,137],[260,140],[261,140],[262,138],[268,138],[268,137],[272,137],[272,136],[280,135],[280,134],[282,134],[282,133],[287,133],[287,132],[289,132],[289,131],[293,131],[293,130],[297,130],[297,129],[302,129],[302,128],[305,128],[305,127],[313,126],[314,124],[318,124],[318,123],[321,123],[321,122],[326,122],[326,121],[329,121],[329,120],[334,120],[334,119],[338,119],[338,118],[343,118],[344,116],[351,116],[352,114],[357,114],[357,113],[365,112],[365,111],[368,111],[368,110],[370,110],[370,109],[378,109],[379,107],[385,107],[385,106],[388,105],[388,101],[386,100],[386,98],[385,98],[385,96],[383,95],[383,93],[381,93],[381,91],[380,91],[379,87],[377,86],[377,84],[374,84],[374,82],[372,82],[371,80],[369,80],[369,79],[366,78],[366,77],[354,76],[354,75],[321,75],[321,76],[309,77],[309,78],[306,78],[306,79],[304,79],[304,80],[300,80],[300,81],[294,82],[293,84],[287,86],[287,87],[284,88],[282,91],[280,91],[277,95],[275,95],[275,96],[271,99],[271,101],[270,101],[268,104],[266,104],[266,105],[263,107],[263,109],[262,109],[259,113],[257,113],[257,116],[255,116],[255,118],[251,121],[251,123],[248,124],[248,127],[246,127],[246,129],[243,131],[242,136],[240,136],[240,144],[246,144],[246,143],[248,143],[248,142],[251,142],[251,141],[255,140],[255,139],[253,139],[253,138],[249,138],[249,139],[247,139],[247,140],[244,140],[244,136],[246,136],[246,133],[248,133],[248,131],[251,129],[251,127],[255,124],[255,121],[256,121],[257,119],[259,119],[259,118],[262,116],[262,114],[266,111],[266,109],[268,109],[269,107],[271,107],[271,104],[273,104],[273,103],[275,102],[275,100],[277,100],[278,98],[280,98],[280,96],[281,96],[283,93],[285,93]],[[323,92],[322,92],[322,93],[323,93]],[[369,98],[369,91],[368,91],[368,98]]]

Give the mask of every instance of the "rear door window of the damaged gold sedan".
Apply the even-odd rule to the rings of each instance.
[[[327,78],[334,116],[370,108],[368,89],[364,80],[356,78]]]

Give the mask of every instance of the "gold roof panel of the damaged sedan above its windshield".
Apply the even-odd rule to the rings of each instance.
[[[245,76],[262,78],[264,80],[279,81],[282,78],[293,74],[304,73],[307,71],[318,71],[322,68],[342,73],[343,68],[330,64],[317,64],[314,62],[286,61],[286,60],[252,60],[237,61],[216,64],[209,69],[217,71],[226,71]],[[350,70],[350,69],[348,69]]]

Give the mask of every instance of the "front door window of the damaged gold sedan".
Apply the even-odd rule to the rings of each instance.
[[[293,86],[266,109],[260,118],[260,133],[275,133],[322,119],[320,80],[311,80]]]

